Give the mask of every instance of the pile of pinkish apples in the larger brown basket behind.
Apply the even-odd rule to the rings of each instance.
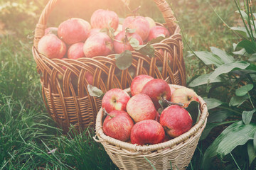
[[[169,37],[169,31],[156,26],[152,18],[128,16],[121,24],[114,11],[98,9],[92,13],[90,23],[70,18],[58,28],[46,28],[38,52],[50,59],[107,56],[134,50],[131,40],[133,45],[143,45],[159,36]]]

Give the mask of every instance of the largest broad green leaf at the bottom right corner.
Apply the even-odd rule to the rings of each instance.
[[[233,123],[225,128],[223,132],[213,141],[206,149],[203,155],[203,169],[209,169],[211,159],[220,155],[224,157],[229,154],[235,147],[245,145],[248,140],[252,140],[256,132],[256,125],[245,125],[242,121]]]

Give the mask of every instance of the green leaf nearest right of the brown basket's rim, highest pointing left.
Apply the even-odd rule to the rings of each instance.
[[[198,59],[200,59],[206,65],[215,64],[216,67],[219,67],[220,65],[224,64],[220,57],[213,55],[211,52],[198,51],[194,53],[196,54],[196,57],[198,57]],[[188,55],[188,57],[191,56],[193,55]]]

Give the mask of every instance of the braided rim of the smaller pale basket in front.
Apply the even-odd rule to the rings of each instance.
[[[181,87],[187,88],[186,86],[179,86],[175,84],[169,84],[169,86],[173,86],[175,89],[179,89]],[[128,93],[130,91],[130,88],[124,89],[124,91]],[[100,108],[100,111],[97,113],[96,126],[95,126],[96,135],[94,137],[94,140],[97,142],[109,143],[110,145],[114,145],[122,149],[127,149],[131,152],[153,152],[153,151],[165,149],[166,147],[169,147],[169,148],[175,147],[181,142],[186,142],[189,138],[195,136],[196,133],[203,132],[202,129],[206,126],[207,117],[208,117],[208,108],[206,106],[206,102],[203,101],[203,98],[201,98],[201,96],[198,96],[198,99],[199,99],[200,111],[201,111],[201,115],[199,117],[198,122],[195,125],[193,125],[193,127],[190,130],[188,130],[188,132],[185,132],[182,135],[175,137],[174,139],[171,139],[169,141],[161,142],[159,144],[154,144],[154,145],[141,146],[141,145],[132,144],[128,142],[122,142],[120,140],[116,140],[110,136],[105,135],[102,128],[102,117],[103,117],[102,107]],[[96,137],[98,137],[99,140],[97,140]]]

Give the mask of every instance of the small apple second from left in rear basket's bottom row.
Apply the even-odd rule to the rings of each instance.
[[[68,48],[68,58],[76,60],[78,58],[85,57],[85,54],[83,52],[83,45],[84,45],[84,42],[77,42],[71,45]]]

